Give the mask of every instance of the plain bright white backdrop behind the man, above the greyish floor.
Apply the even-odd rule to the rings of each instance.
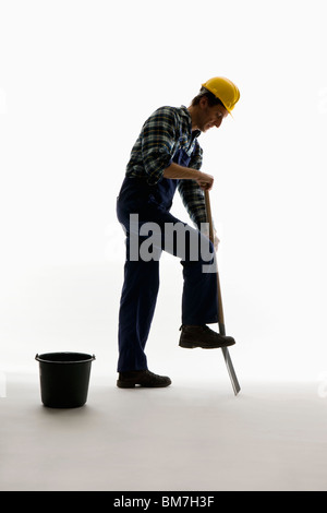
[[[241,99],[201,144],[234,365],[241,380],[325,379],[325,3],[1,0],[2,375],[47,350],[116,372],[131,147],[155,108],[225,75]],[[189,220],[179,198],[172,212]],[[164,255],[149,367],[220,372],[217,353],[178,348],[181,287]]]

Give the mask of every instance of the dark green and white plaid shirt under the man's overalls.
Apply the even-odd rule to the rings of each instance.
[[[197,142],[199,133],[198,130],[192,132],[186,107],[160,107],[142,128],[131,152],[126,176],[144,177],[148,184],[155,186],[181,148],[191,157],[187,167],[201,169],[203,150]],[[199,227],[201,223],[206,222],[203,190],[195,180],[179,180],[178,190],[191,219]]]

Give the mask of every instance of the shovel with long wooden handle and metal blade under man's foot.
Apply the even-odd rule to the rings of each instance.
[[[205,190],[205,203],[206,203],[206,214],[207,214],[207,223],[209,225],[209,239],[214,243],[214,227],[213,227],[213,217],[211,217],[211,206],[210,206],[210,198],[209,198],[209,191]],[[216,260],[216,275],[217,275],[217,290],[218,290],[218,327],[219,327],[219,333],[220,335],[226,335],[226,330],[225,330],[225,320],[223,320],[223,309],[222,309],[222,300],[221,300],[221,289],[220,289],[220,281],[219,281],[219,272],[218,272],[218,263],[217,263],[217,258]],[[221,347],[226,367],[231,380],[231,384],[234,391],[234,394],[238,395],[238,393],[241,390],[241,386],[239,384],[232,360],[228,350],[228,347]]]

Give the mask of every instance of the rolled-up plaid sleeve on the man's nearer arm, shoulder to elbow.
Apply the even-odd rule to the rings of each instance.
[[[142,130],[142,159],[147,182],[155,186],[172,163],[178,134],[178,120],[171,109],[156,110]]]

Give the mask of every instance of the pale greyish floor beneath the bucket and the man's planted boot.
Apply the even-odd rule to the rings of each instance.
[[[0,489],[327,490],[327,398],[316,383],[173,378],[120,390],[93,375],[85,406],[46,408],[38,373],[7,375]]]

